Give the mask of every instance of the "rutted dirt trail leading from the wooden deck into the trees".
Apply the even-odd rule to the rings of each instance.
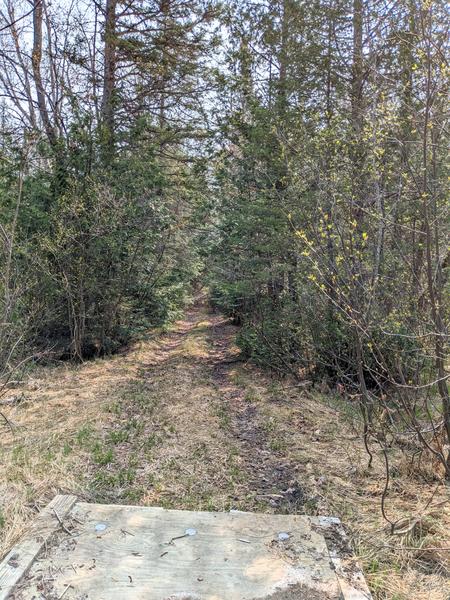
[[[156,356],[153,349],[144,351],[139,377],[157,405],[145,434],[164,431],[136,477],[140,483],[150,476],[153,483],[146,502],[178,506],[182,498],[184,506],[198,507],[202,499],[206,507],[301,511],[295,466],[270,447],[271,423],[239,381],[245,365],[235,334],[228,319],[200,302],[161,338]],[[126,420],[142,419],[132,401],[125,404]],[[127,457],[130,445],[121,452]],[[120,462],[125,464],[123,456]]]

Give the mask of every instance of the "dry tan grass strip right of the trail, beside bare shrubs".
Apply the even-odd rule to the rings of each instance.
[[[250,369],[251,371],[251,369]],[[243,385],[245,378],[241,377]],[[384,463],[375,452],[371,470],[361,439],[339,410],[323,398],[285,387],[277,403],[267,402],[259,386],[263,412],[277,423],[286,440],[284,455],[300,465],[312,511],[339,516],[376,598],[448,600],[450,590],[450,503],[448,488],[428,484],[420,473],[405,476],[403,457],[392,453],[398,475],[391,480],[386,510],[392,521],[417,521],[404,535],[390,534],[380,510]],[[437,490],[436,490],[437,486]],[[426,506],[434,494],[429,506]],[[404,529],[406,530],[406,523]]]

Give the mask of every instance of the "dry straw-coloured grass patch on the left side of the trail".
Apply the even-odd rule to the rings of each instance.
[[[128,378],[120,358],[78,367],[39,369],[10,397],[21,397],[4,410],[13,431],[0,442],[0,555],[22,534],[30,518],[61,490],[83,495],[79,473],[84,453],[69,454],[67,444],[84,425],[95,422],[110,390]]]

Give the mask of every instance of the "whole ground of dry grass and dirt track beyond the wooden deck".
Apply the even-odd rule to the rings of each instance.
[[[375,451],[369,471],[356,407],[242,362],[235,334],[199,301],[167,332],[114,357],[42,367],[11,390],[2,407],[14,433],[0,438],[0,556],[58,492],[324,514],[344,522],[375,598],[448,600],[445,489],[393,453],[386,510],[412,527],[390,536],[382,456]]]

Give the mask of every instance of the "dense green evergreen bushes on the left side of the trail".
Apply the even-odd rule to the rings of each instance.
[[[133,153],[108,171],[99,164],[83,173],[91,145],[83,125],[72,134],[62,164],[23,179],[13,274],[26,285],[14,315],[28,321],[40,349],[81,359],[179,316],[201,265],[184,233],[201,183],[176,165],[169,181],[153,145],[137,137]],[[6,223],[14,218],[14,182],[11,173],[3,181]]]

